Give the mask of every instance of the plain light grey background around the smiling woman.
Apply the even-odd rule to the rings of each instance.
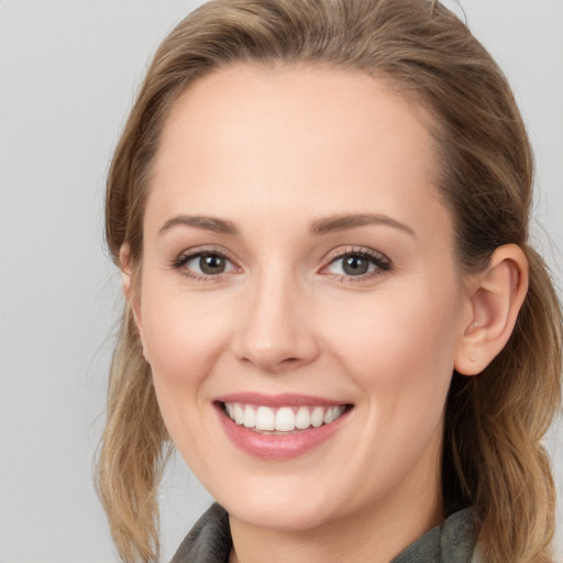
[[[91,471],[120,309],[104,176],[152,53],[198,3],[0,0],[1,563],[117,561]],[[529,125],[534,236],[561,287],[563,0],[463,7]],[[562,433],[547,443],[563,492]],[[167,561],[209,498],[181,462],[161,496]]]

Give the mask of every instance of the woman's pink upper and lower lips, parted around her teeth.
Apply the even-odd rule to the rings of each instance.
[[[243,402],[245,405],[282,406],[338,406],[343,402],[303,395],[264,396],[261,394],[233,394],[218,398],[214,402],[222,428],[231,441],[243,452],[264,460],[289,460],[303,455],[327,442],[347,420],[350,410],[341,417],[319,428],[296,430],[287,434],[268,434],[250,430],[236,424],[223,411],[222,402]]]

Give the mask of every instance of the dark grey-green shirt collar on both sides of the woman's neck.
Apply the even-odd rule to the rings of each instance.
[[[390,563],[479,563],[470,508],[454,512]],[[186,536],[170,563],[228,563],[232,548],[229,515],[214,504]]]

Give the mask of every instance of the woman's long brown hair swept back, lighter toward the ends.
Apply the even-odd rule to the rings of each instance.
[[[440,188],[467,272],[518,244],[530,286],[514,333],[476,377],[453,374],[442,467],[444,508],[472,505],[492,563],[551,562],[554,487],[541,440],[561,402],[561,309],[528,244],[533,159],[506,78],[454,14],[430,0],[217,0],[162,43],[115,150],[106,236],[137,267],[151,163],[177,97],[236,62],[310,64],[384,77],[424,106],[438,142]],[[123,561],[158,553],[155,493],[168,440],[148,365],[125,305],[113,356],[98,488]]]

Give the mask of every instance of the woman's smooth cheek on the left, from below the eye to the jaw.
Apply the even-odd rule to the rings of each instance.
[[[161,413],[173,442],[197,470],[210,443],[201,438],[209,426],[202,413],[211,415],[208,382],[229,340],[230,311],[224,302],[198,299],[156,276],[143,282],[142,333]]]

